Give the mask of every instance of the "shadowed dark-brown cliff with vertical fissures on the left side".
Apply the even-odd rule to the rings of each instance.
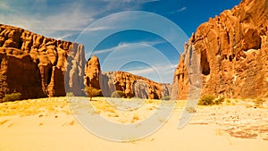
[[[83,51],[83,46],[71,42],[0,24],[0,98],[13,92],[22,98],[65,96],[65,83],[67,88],[82,83]],[[71,74],[75,68],[77,75]],[[70,76],[64,83],[65,71]]]

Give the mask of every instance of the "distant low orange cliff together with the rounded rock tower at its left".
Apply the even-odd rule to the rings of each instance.
[[[95,55],[88,60],[85,73],[84,84],[93,88],[101,88],[104,96],[111,96],[116,90],[123,91],[126,96],[130,97],[159,99],[163,96],[170,96],[169,84],[156,83],[125,71],[101,72],[100,63]]]

